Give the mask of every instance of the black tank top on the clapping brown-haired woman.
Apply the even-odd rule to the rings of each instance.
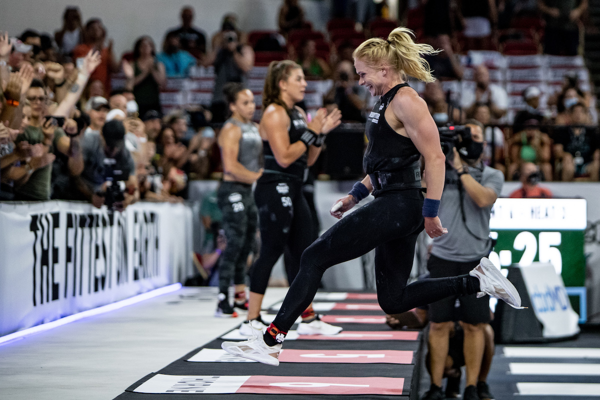
[[[304,116],[302,116],[302,113],[299,112],[296,107],[293,107],[293,109],[289,110],[287,115],[290,117],[290,128],[287,133],[290,136],[290,144],[292,144],[300,140],[300,137],[307,129],[307,124]],[[292,176],[293,178],[302,180],[305,179],[306,170],[308,168],[308,155],[306,152],[302,154],[298,160],[294,161],[289,167],[284,168],[277,163],[277,160],[275,160],[275,155],[273,154],[271,146],[266,140],[263,140],[263,149],[265,154],[265,172],[263,172],[263,175],[260,177],[259,181],[265,181],[265,179],[270,178],[269,175],[272,177],[274,174]]]

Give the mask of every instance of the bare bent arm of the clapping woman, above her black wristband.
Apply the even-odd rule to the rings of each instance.
[[[302,142],[298,141],[290,144],[290,136],[287,133],[287,127],[290,126],[290,123],[286,110],[277,104],[271,104],[267,107],[263,118],[260,120],[261,136],[263,138],[266,136],[275,155],[275,161],[283,168],[292,165],[307,151]]]

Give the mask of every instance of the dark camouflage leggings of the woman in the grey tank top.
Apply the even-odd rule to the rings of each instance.
[[[258,221],[250,185],[221,182],[217,201],[227,238],[219,260],[219,291],[227,296],[232,279],[236,285],[245,283],[248,254],[256,239]]]

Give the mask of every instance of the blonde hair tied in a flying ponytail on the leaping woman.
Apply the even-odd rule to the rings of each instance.
[[[412,37],[411,37],[412,36]],[[428,44],[415,43],[415,34],[407,28],[396,28],[388,39],[371,38],[365,40],[352,53],[354,59],[361,59],[368,65],[380,67],[389,65],[406,80],[412,76],[423,82],[436,80],[431,74],[429,63],[422,55],[437,54],[441,50],[434,50]]]

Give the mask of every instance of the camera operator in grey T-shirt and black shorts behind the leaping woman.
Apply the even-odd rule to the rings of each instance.
[[[475,119],[466,121],[470,135],[455,127],[453,148],[446,152],[446,184],[439,217],[448,234],[436,237],[427,267],[431,278],[469,273],[482,257],[490,253],[490,212],[504,178],[502,172],[482,163],[483,125]],[[441,385],[444,363],[448,355],[449,333],[454,321],[464,330],[464,359],[467,387],[464,400],[489,399],[487,369],[481,369],[484,354],[484,332],[490,322],[490,296],[476,294],[448,297],[430,305],[431,390],[428,400],[443,399]]]

